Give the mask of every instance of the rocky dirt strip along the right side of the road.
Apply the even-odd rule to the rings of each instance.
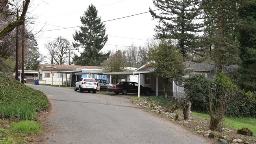
[[[167,112],[167,109],[164,107],[154,105],[152,106],[152,102],[149,100],[141,99],[141,100],[131,100],[135,105],[141,106],[143,109],[147,110],[150,113],[154,113],[161,118],[165,118],[173,122],[174,124],[180,125],[185,129],[192,131],[195,135],[205,138],[210,143],[234,143],[234,139],[240,139],[245,144],[256,144],[255,136],[245,136],[237,134],[236,129],[232,129],[229,127],[224,128],[222,132],[210,131],[209,129],[209,119],[202,118],[200,116],[191,115],[191,121],[184,120],[184,116],[181,110],[174,111],[174,113]],[[178,114],[178,120],[176,119],[176,114]],[[217,135],[215,138],[209,138],[208,134],[213,132]]]

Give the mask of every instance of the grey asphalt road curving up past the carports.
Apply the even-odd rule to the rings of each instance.
[[[49,144],[202,144],[203,138],[130,103],[128,96],[27,85],[49,95]]]

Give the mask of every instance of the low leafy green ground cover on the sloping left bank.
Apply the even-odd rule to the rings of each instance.
[[[0,88],[0,105],[6,102],[28,103],[35,105],[36,111],[45,110],[50,106],[43,92],[32,89],[3,73],[0,73]]]

